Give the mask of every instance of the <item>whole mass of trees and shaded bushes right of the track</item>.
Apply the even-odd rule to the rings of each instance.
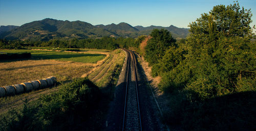
[[[218,5],[189,24],[190,34],[178,46],[173,41],[166,40],[171,39],[171,36],[164,35],[166,33],[158,31],[159,35],[152,35],[153,38],[146,47],[145,58],[153,65],[153,76],[162,77],[160,89],[172,94],[172,108],[166,113],[169,124],[179,123],[186,130],[215,130],[217,128],[211,127],[214,125],[223,130],[255,127],[255,97],[251,96],[256,90],[256,45],[251,40],[251,16],[250,10],[240,8],[238,3]],[[248,92],[247,96],[243,92]],[[220,99],[229,101],[228,95],[233,103],[220,104]],[[241,100],[243,97],[247,97],[246,107],[253,117],[245,113],[242,106],[245,106],[243,102],[246,99]],[[234,114],[237,117],[223,115],[223,110],[235,110],[231,105],[241,109],[238,114]],[[203,114],[208,117],[201,118]],[[207,121],[213,116],[216,120],[202,124],[202,119]],[[232,126],[231,121],[237,125],[227,127],[216,122],[220,119],[227,122],[228,126]]]

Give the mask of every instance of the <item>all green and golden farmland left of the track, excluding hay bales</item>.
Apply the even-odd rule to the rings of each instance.
[[[105,86],[117,64],[122,65],[125,53],[117,49],[82,50],[80,52],[55,52],[42,50],[0,50],[0,52],[16,53],[30,52],[30,59],[14,59],[0,61],[0,86],[18,84],[36,79],[55,76],[57,81],[65,83],[78,77],[92,77],[94,72],[100,72],[100,77],[94,78],[97,85]],[[106,66],[108,65],[108,66]],[[108,70],[103,70],[107,67]],[[42,94],[50,94],[58,87],[32,91],[21,95],[0,98],[0,114],[11,108],[22,107],[25,100],[37,100]]]

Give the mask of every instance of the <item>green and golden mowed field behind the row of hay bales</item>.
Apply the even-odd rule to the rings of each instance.
[[[96,67],[108,55],[102,52],[90,54],[90,52],[73,53],[34,50],[0,50],[0,52],[31,53],[30,59],[0,61],[0,86],[49,76],[56,76],[59,82],[71,80]]]

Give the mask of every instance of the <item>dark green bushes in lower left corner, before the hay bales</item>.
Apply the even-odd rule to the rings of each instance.
[[[21,112],[0,119],[0,130],[89,130],[101,99],[99,88],[88,78],[62,85],[57,92],[26,103]],[[95,118],[96,119],[96,118]],[[94,120],[94,119],[93,119]]]

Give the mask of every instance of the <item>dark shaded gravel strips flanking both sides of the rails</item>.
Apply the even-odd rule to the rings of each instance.
[[[138,62],[136,64],[136,70],[142,130],[165,130],[161,124],[160,115],[151,90],[147,86],[147,81],[144,78],[144,72]],[[122,130],[125,89],[126,82],[121,82],[116,86],[115,91],[112,92],[114,93],[114,97],[109,104],[109,113],[103,130]]]

